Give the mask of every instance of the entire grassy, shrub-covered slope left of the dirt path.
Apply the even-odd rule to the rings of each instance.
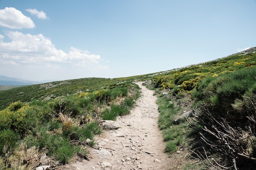
[[[63,164],[73,155],[85,159],[84,145],[93,146],[102,131],[99,122],[129,113],[139,87],[81,78],[18,87],[0,96],[0,169],[34,169],[45,153]]]

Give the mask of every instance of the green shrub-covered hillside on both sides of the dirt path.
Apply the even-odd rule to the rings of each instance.
[[[20,159],[15,155],[15,149],[27,152],[24,149],[35,150],[33,146],[40,148],[39,155],[47,153],[47,156],[55,157],[63,164],[68,163],[73,155],[85,158],[87,151],[82,148],[85,145],[95,145],[94,135],[102,133],[98,126],[101,120],[116,120],[117,116],[128,114],[139,98],[139,87],[134,81],[145,81],[146,86],[153,89],[158,98],[158,126],[166,142],[165,152],[175,160],[173,153],[179,151],[185,159],[186,152],[182,151],[190,150],[193,158],[199,161],[193,165],[182,165],[184,169],[214,167],[215,163],[207,157],[214,158],[216,163],[229,168],[236,166],[233,159],[241,166],[248,161],[254,165],[252,160],[256,158],[256,150],[251,146],[256,144],[256,120],[253,114],[256,111],[255,58],[256,48],[250,48],[206,63],[153,74],[114,79],[80,78],[0,91],[0,150],[7,147],[6,152],[0,153],[3,157],[0,163],[12,160],[14,166],[15,157]],[[192,110],[195,118],[174,121],[182,113]],[[207,110],[213,112],[208,113]],[[225,127],[230,129],[219,126],[213,120],[223,121]],[[225,123],[225,120],[228,121]],[[230,122],[247,123],[241,127]],[[228,132],[234,129],[241,130],[233,133],[237,135],[232,137],[233,141],[226,141],[230,146],[218,147],[222,143],[218,143],[220,140],[215,142],[214,138],[223,134],[231,136]],[[226,131],[222,132],[223,130]],[[252,136],[249,140],[252,143],[250,147],[246,142],[248,140],[243,141],[247,139],[245,136]],[[91,142],[85,142],[87,139]],[[243,146],[236,147],[235,143],[238,144],[239,141],[235,139],[244,142]],[[21,146],[20,140],[25,141],[22,143],[25,146]],[[215,150],[211,150],[209,144],[216,146]],[[207,150],[205,154],[202,146]],[[247,146],[250,150],[246,150]],[[236,153],[243,151],[240,153],[242,158],[241,155],[230,152],[230,148]],[[218,150],[225,153],[224,156],[218,155]],[[9,153],[13,154],[12,159]],[[203,154],[200,155],[201,153]],[[222,162],[224,159],[227,161]],[[9,162],[9,167],[11,166]],[[33,169],[38,164],[25,163],[22,166]]]

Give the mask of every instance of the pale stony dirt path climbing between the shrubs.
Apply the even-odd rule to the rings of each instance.
[[[76,161],[62,170],[168,170],[168,155],[158,129],[158,106],[154,91],[137,83],[141,98],[129,115],[117,118],[121,128],[103,131],[95,148],[89,148],[90,161]]]

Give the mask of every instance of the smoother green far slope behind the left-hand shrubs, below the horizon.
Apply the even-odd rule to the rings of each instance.
[[[119,81],[110,78],[80,78],[68,81],[56,81],[38,85],[28,85],[15,89],[0,91],[0,109],[4,109],[11,102],[20,100],[29,102],[32,99],[56,98],[84,91],[93,91],[101,87],[107,87]]]

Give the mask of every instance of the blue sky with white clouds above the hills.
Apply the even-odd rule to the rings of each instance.
[[[256,0],[0,0],[0,75],[119,78],[256,46]]]

